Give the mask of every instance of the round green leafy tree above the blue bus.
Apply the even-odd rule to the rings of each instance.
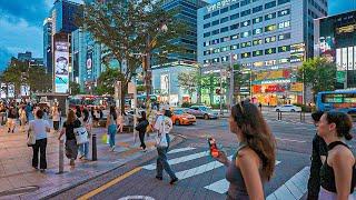
[[[313,97],[319,91],[335,90],[336,64],[325,58],[313,58],[298,69],[298,81],[312,88]]]

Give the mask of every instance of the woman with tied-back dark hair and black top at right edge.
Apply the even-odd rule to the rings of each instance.
[[[326,161],[320,169],[319,199],[354,199],[356,184],[355,157],[344,142],[352,140],[353,121],[344,112],[326,112],[317,123],[318,134],[327,143]]]

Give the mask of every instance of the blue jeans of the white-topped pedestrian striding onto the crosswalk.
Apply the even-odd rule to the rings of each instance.
[[[162,177],[162,172],[164,172],[164,169],[166,170],[166,172],[169,174],[169,177],[171,179],[175,179],[177,178],[175,172],[171,170],[168,161],[167,161],[167,151],[168,151],[168,148],[169,148],[169,143],[170,143],[170,138],[168,134],[167,136],[167,142],[168,142],[168,147],[167,148],[157,148],[157,152],[158,152],[158,158],[157,158],[157,168],[156,168],[156,171],[157,171],[157,177]]]

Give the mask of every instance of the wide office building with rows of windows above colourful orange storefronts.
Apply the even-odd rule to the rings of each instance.
[[[263,104],[301,103],[297,68],[313,57],[313,19],[326,14],[327,0],[222,0],[201,8],[197,23],[201,71],[218,72],[224,79],[225,71],[238,63],[241,70],[236,76],[247,73],[249,79],[233,87],[235,94],[237,88]],[[222,88],[226,96],[211,94],[211,87],[201,91],[202,102],[229,103],[229,86]]]

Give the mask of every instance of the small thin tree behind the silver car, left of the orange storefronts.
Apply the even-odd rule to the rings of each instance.
[[[190,103],[192,93],[198,91],[200,79],[198,71],[180,72],[178,74],[178,86],[188,91]]]

